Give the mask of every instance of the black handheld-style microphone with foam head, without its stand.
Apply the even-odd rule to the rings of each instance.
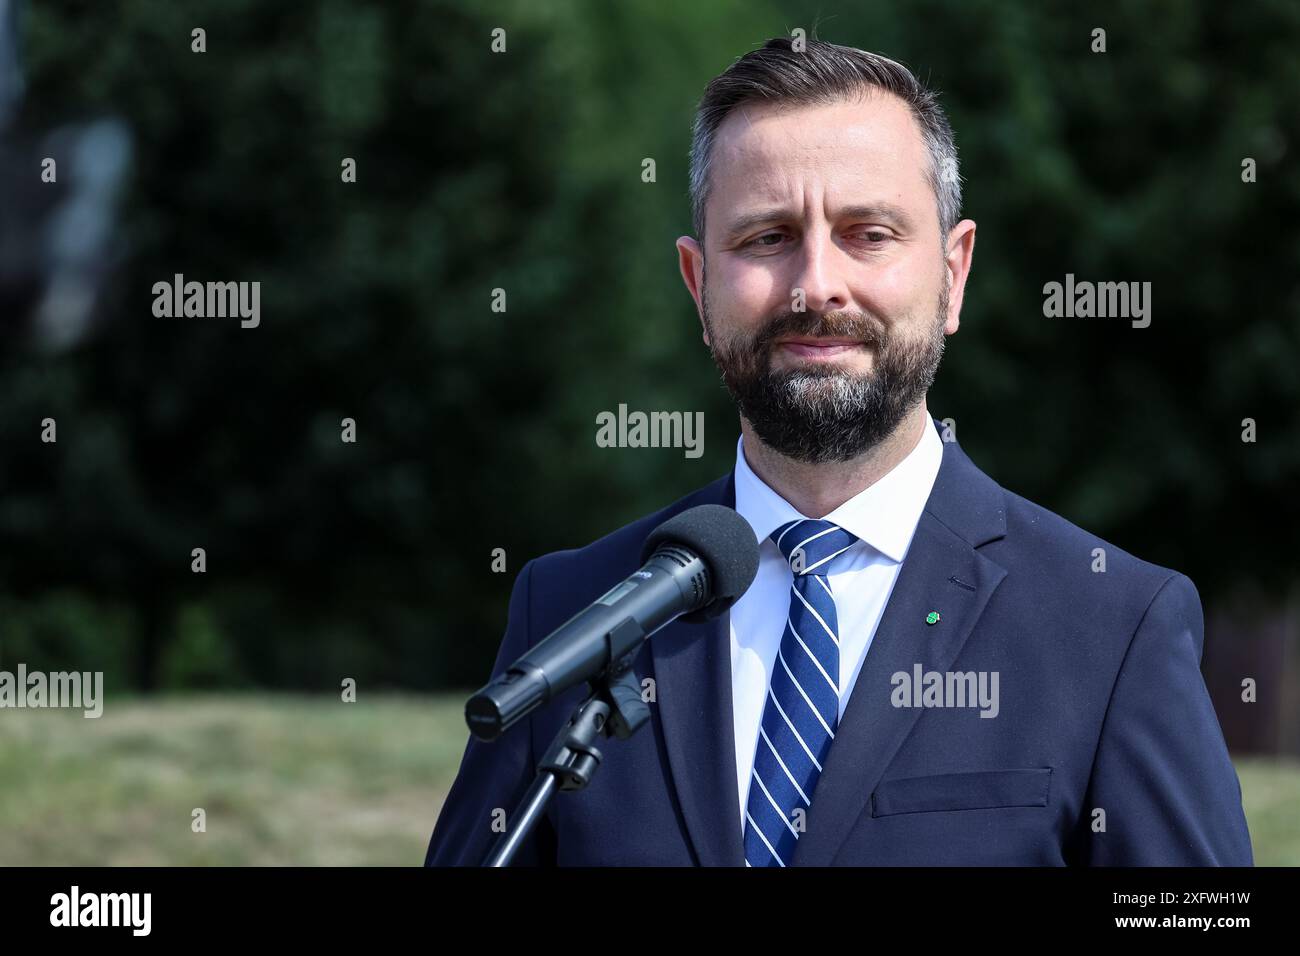
[[[465,704],[469,732],[495,740],[584,680],[621,670],[651,633],[731,607],[758,571],[749,522],[723,505],[688,509],[655,528],[640,571],[560,624]]]

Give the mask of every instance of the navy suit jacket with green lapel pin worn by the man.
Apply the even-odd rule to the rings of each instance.
[[[529,561],[493,676],[637,570],[667,518],[733,507],[733,479]],[[1202,640],[1188,578],[1005,490],[945,442],[790,865],[1252,865]],[[516,865],[745,865],[729,648],[728,614],[646,641],[634,671],[654,679],[651,721],[598,741],[592,784],[555,795]],[[918,663],[997,671],[997,717],[894,706],[892,675]],[[585,695],[571,689],[493,743],[469,739],[428,865],[482,861]]]

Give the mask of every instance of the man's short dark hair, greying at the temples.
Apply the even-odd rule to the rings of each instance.
[[[760,49],[740,57],[705,88],[690,138],[690,215],[696,237],[703,242],[718,127],[736,107],[754,100],[822,105],[874,87],[900,98],[916,118],[930,152],[926,178],[939,204],[940,241],[946,242],[961,216],[962,179],[953,129],[936,94],[906,66],[876,53],[818,39],[803,40],[803,44],[800,52],[788,36],[771,39]]]

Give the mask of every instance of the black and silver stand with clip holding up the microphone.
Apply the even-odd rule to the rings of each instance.
[[[515,853],[546,813],[556,790],[582,790],[601,766],[601,750],[594,745],[606,737],[627,740],[650,719],[650,706],[641,700],[641,687],[632,671],[632,658],[645,641],[645,631],[632,618],[615,626],[607,639],[612,646],[632,646],[601,675],[588,682],[592,693],[575,708],[560,727],[550,749],[537,763],[537,777],[515,809],[517,821],[497,840],[484,866],[510,866]],[[507,819],[515,819],[507,817]]]

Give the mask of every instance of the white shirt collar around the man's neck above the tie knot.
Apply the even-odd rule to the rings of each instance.
[[[826,520],[855,535],[890,561],[901,562],[942,459],[944,442],[927,418],[920,440],[907,457],[870,488],[840,505]],[[785,522],[807,518],[749,467],[744,436],[736,440],[736,510],[754,528],[760,545]]]

